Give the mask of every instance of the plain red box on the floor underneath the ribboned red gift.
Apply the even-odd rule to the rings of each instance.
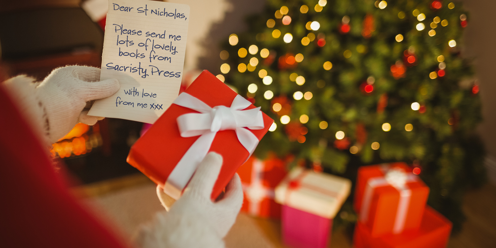
[[[451,233],[451,222],[426,206],[420,228],[401,234],[372,237],[370,229],[358,222],[353,235],[355,248],[445,248]]]

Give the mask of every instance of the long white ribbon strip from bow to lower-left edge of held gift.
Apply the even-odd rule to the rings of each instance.
[[[174,167],[167,178],[164,192],[179,199],[189,179],[193,176],[200,162],[210,150],[216,132],[207,132],[201,135],[186,151],[179,163]]]

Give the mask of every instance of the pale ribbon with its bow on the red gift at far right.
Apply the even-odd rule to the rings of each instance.
[[[412,190],[406,186],[406,183],[415,182],[418,177],[413,174],[406,174],[401,169],[383,170],[384,177],[370,178],[365,187],[364,198],[362,200],[362,208],[360,209],[360,221],[366,222],[369,217],[370,204],[372,202],[373,190],[376,187],[391,185],[400,192],[400,200],[396,210],[394,219],[393,233],[401,233],[405,227],[406,215],[408,206],[410,205],[410,197]]]

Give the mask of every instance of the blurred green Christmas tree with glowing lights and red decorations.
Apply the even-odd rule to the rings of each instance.
[[[268,0],[226,37],[217,77],[276,121],[256,156],[351,179],[408,162],[457,229],[464,189],[485,179],[479,86],[460,56],[467,18],[439,0]]]

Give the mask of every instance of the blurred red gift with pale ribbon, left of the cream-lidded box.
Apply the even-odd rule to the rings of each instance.
[[[274,189],[286,176],[286,162],[275,154],[261,161],[251,156],[238,169],[243,184],[241,211],[263,218],[281,218],[281,204],[274,201]]]

